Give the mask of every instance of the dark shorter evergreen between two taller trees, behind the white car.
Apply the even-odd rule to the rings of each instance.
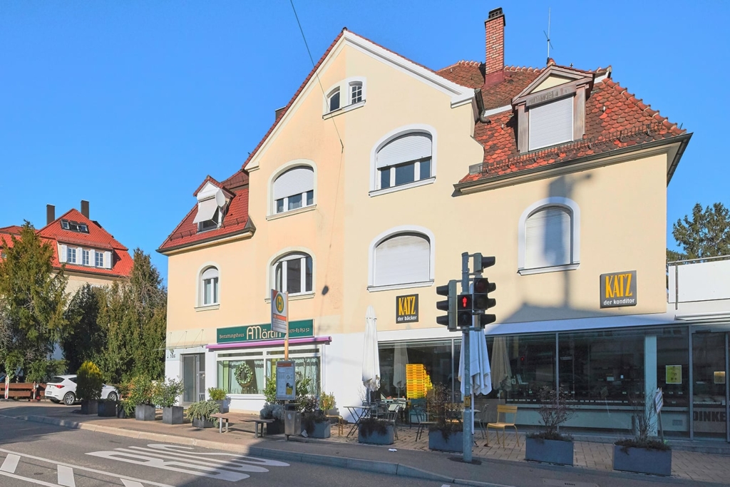
[[[69,303],[64,316],[69,322],[61,338],[61,349],[69,370],[78,370],[85,361],[99,363],[107,345],[107,330],[99,326],[99,299],[104,288],[82,285]]]

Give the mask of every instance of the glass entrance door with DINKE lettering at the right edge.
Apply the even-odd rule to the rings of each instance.
[[[695,438],[728,437],[727,334],[692,335]]]

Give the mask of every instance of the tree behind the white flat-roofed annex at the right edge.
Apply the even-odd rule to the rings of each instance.
[[[669,261],[730,255],[730,212],[722,203],[704,210],[697,203],[692,218],[685,215],[672,226],[672,236],[683,252],[667,249]]]

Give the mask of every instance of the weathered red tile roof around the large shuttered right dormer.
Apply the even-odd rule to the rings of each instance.
[[[585,74],[607,74],[610,69],[585,71],[568,66],[559,67]],[[621,147],[677,137],[687,132],[678,129],[675,123],[669,122],[666,117],[606,77],[593,86],[593,91],[585,100],[583,139],[520,154],[517,148],[517,116],[512,111],[512,99],[545,69],[507,66],[501,81],[487,85],[484,84],[484,64],[476,61],[459,61],[437,71],[455,83],[481,88],[485,110],[510,107],[489,116],[486,123],[477,120],[474,137],[484,147],[483,165],[479,172],[466,175],[459,183],[488,180]]]

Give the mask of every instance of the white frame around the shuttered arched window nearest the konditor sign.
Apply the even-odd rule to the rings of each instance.
[[[572,236],[572,252],[569,264],[548,267],[525,267],[526,254],[526,224],[527,219],[534,213],[543,210],[545,207],[564,207],[570,213],[571,236]],[[580,207],[572,199],[561,196],[552,196],[550,198],[541,199],[531,204],[520,215],[518,224],[518,264],[517,270],[520,275],[542,274],[544,272],[569,271],[577,269],[580,266]]]

